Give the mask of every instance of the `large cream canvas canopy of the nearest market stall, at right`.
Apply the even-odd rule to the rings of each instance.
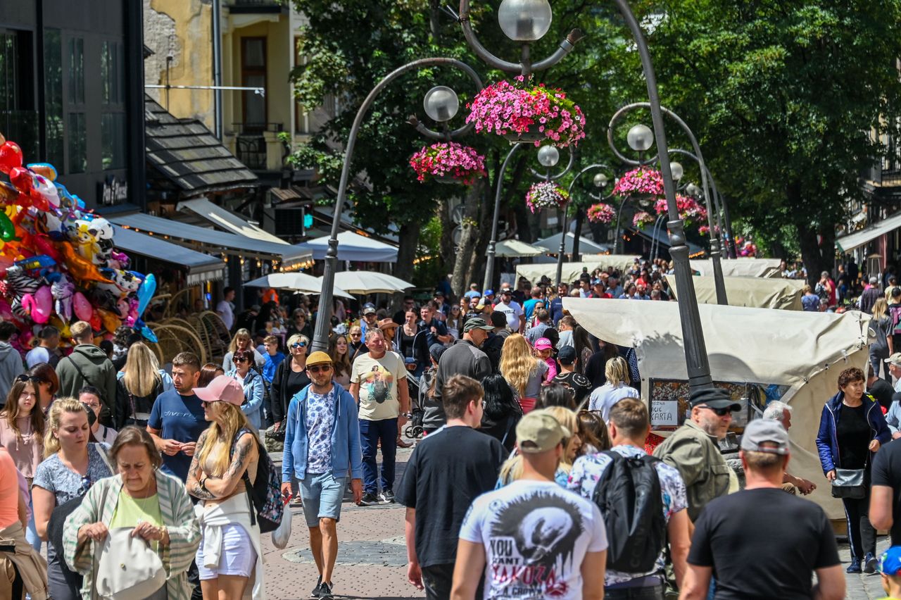
[[[597,338],[635,349],[645,401],[651,379],[687,380],[678,303],[568,297],[563,308]],[[842,369],[866,367],[869,315],[720,305],[699,305],[698,311],[714,382],[759,384],[770,392],[778,387],[778,399],[794,409],[790,470],[822,480],[815,439],[823,405]],[[830,518],[843,514],[829,486],[811,497]]]

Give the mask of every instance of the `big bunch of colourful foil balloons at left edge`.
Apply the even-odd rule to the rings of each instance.
[[[0,317],[34,330],[55,325],[68,338],[73,319],[111,337],[125,325],[149,341],[156,335],[141,314],[156,279],[128,270],[113,225],[57,181],[48,163],[23,164],[22,149],[0,135]]]

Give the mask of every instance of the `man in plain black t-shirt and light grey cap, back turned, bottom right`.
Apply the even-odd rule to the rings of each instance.
[[[745,428],[740,456],[747,485],[715,498],[698,517],[681,600],[703,600],[712,577],[715,600],[844,597],[829,519],[818,505],[782,491],[788,448],[788,433],[776,421],[757,419]]]

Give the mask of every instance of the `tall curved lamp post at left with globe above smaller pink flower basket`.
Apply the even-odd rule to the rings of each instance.
[[[447,58],[419,59],[414,60],[413,62],[409,62],[403,67],[396,68],[395,70],[388,73],[385,77],[382,78],[381,81],[378,82],[378,84],[376,84],[375,87],[372,88],[372,90],[369,92],[369,95],[367,95],[363,100],[363,104],[359,106],[357,115],[356,117],[354,117],[353,124],[350,126],[350,134],[348,135],[347,145],[344,150],[344,164],[341,166],[341,180],[338,184],[338,195],[335,198],[334,213],[332,214],[332,232],[329,235],[328,250],[325,251],[323,289],[321,295],[319,296],[320,316],[318,319],[316,319],[316,327],[313,334],[312,344],[313,350],[326,351],[329,347],[329,331],[332,328],[332,323],[329,315],[332,314],[332,292],[334,290],[335,270],[338,266],[338,230],[341,224],[341,207],[344,205],[344,200],[347,197],[347,185],[348,179],[350,179],[350,162],[353,158],[353,149],[357,143],[357,135],[359,134],[359,128],[363,123],[363,118],[369,112],[369,107],[372,106],[372,103],[375,102],[376,97],[382,92],[382,90],[384,90],[388,86],[388,84],[393,82],[397,77],[400,77],[415,68],[433,66],[458,68],[469,75],[469,77],[471,77],[473,81],[476,82],[478,88],[481,89],[482,82],[481,79],[479,79],[476,71],[473,68],[469,67],[469,65],[467,65],[466,63],[460,62],[460,60]],[[430,92],[433,91],[434,89],[430,90]],[[450,96],[446,93],[437,96],[432,95],[431,98],[429,96],[430,95],[427,95],[425,102],[427,111],[431,110],[431,106],[436,111],[435,114],[439,114],[440,116],[446,114],[453,116],[453,113],[456,112],[456,110],[452,110],[454,103],[457,103],[457,105],[459,105],[459,101],[456,100],[456,95],[454,95],[453,100],[451,100]],[[462,129],[466,130],[466,128]]]

